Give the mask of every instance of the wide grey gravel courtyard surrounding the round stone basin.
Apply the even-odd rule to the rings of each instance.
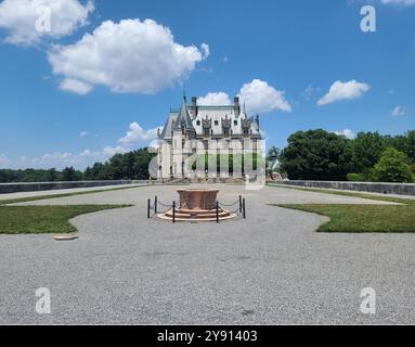
[[[269,205],[382,202],[209,188],[223,203],[242,194],[247,219],[147,220],[146,200],[170,203],[178,187],[25,203],[134,206],[75,218],[80,239],[72,242],[0,235],[0,323],[415,323],[415,234],[317,233],[324,217]],[[35,310],[39,287],[51,291],[51,314]],[[376,291],[376,314],[360,310],[364,287]]]

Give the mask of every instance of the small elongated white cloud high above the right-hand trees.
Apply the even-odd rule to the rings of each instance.
[[[348,82],[336,80],[332,85],[328,93],[320,99],[317,104],[323,106],[341,100],[358,99],[366,93],[369,89],[371,87],[368,85],[361,83],[354,79]]]

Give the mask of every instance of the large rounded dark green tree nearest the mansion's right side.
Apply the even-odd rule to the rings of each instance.
[[[291,180],[346,180],[351,160],[350,140],[322,129],[297,131],[280,156]]]

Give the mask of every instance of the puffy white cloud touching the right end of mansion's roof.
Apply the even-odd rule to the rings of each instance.
[[[248,113],[291,112],[291,105],[285,100],[284,94],[284,91],[276,90],[268,82],[254,79],[242,87],[238,97],[246,104]]]

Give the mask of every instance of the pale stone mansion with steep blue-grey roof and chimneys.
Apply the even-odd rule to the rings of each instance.
[[[158,179],[196,175],[186,169],[186,160],[191,157],[259,153],[262,140],[259,116],[249,117],[243,108],[239,98],[234,99],[233,105],[213,106],[199,105],[197,98],[192,98],[187,105],[183,97],[180,110],[170,110],[165,127],[158,131]],[[204,167],[198,172],[209,178],[230,177],[229,170],[219,171],[209,166],[209,170]],[[242,178],[243,175],[233,172],[232,176]]]

